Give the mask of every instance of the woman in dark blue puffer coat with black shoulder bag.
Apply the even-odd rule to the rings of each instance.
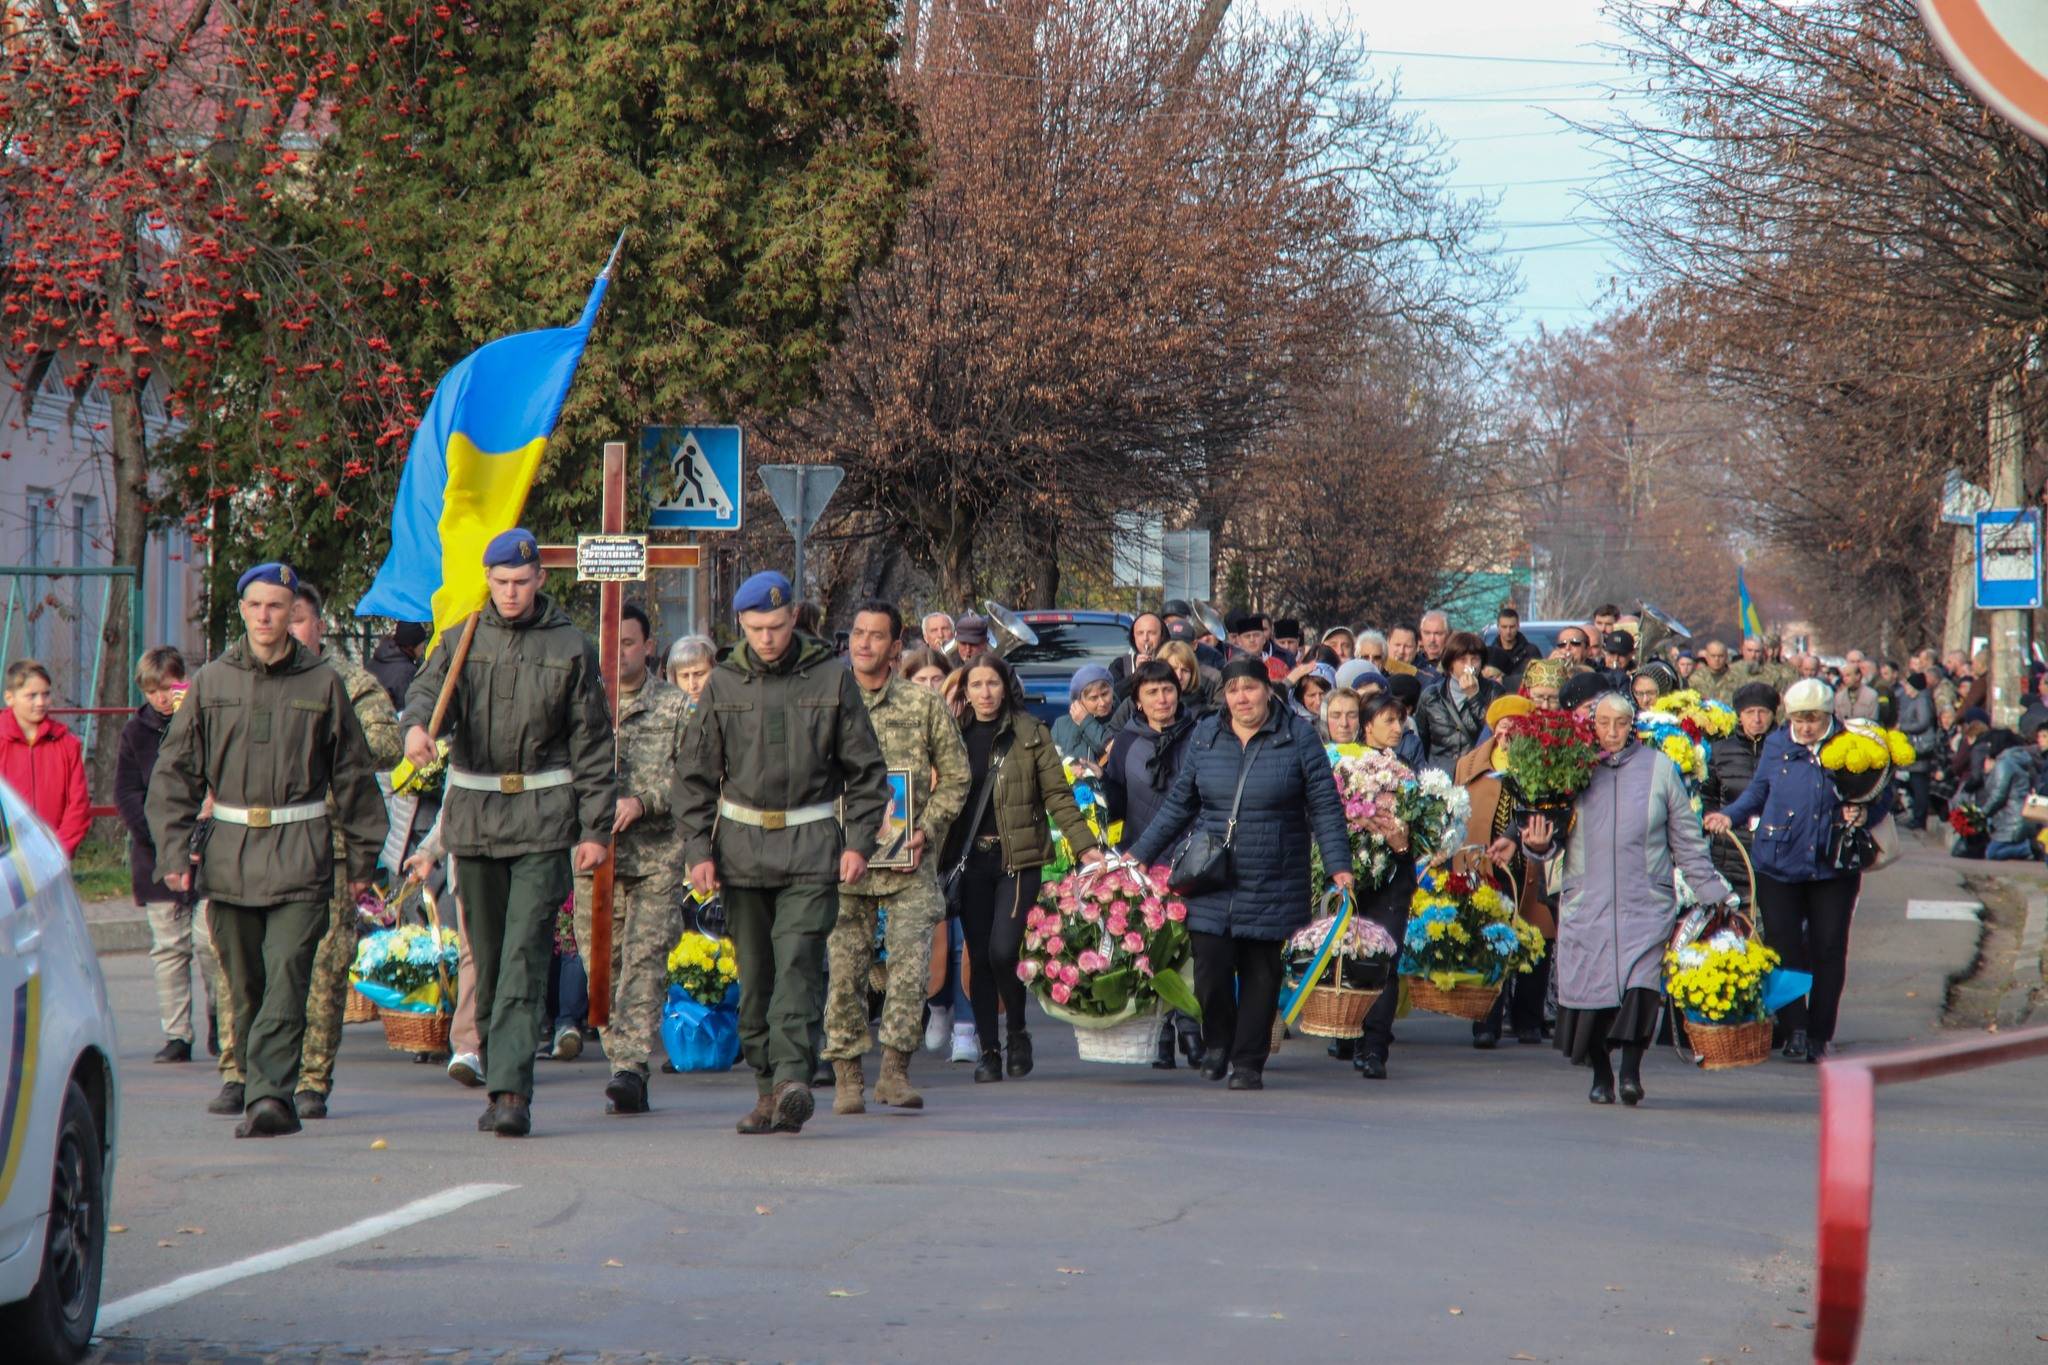
[[[1309,923],[1309,831],[1343,888],[1352,886],[1352,841],[1323,741],[1274,698],[1266,665],[1233,659],[1223,669],[1223,702],[1196,726],[1174,790],[1130,855],[1157,864],[1190,829],[1229,839],[1229,884],[1188,896],[1202,1074],[1221,1081],[1229,1070],[1233,1091],[1257,1091],[1280,1003],[1280,948]]]

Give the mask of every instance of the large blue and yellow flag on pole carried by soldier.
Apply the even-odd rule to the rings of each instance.
[[[483,546],[518,526],[616,260],[612,248],[573,327],[489,342],[434,389],[399,475],[391,553],[356,616],[430,620],[438,641],[483,606]]]

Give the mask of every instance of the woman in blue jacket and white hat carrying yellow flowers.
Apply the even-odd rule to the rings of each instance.
[[[1706,833],[1757,823],[1757,913],[1763,941],[1784,966],[1812,972],[1812,993],[1778,1011],[1788,1062],[1819,1062],[1835,1038],[1841,988],[1849,980],[1849,915],[1864,888],[1862,872],[1829,860],[1835,825],[1862,825],[1866,806],[1835,794],[1821,767],[1821,745],[1835,733],[1835,692],[1817,677],[1786,690],[1786,722],[1763,741],[1757,776],[1741,796],[1706,817]]]

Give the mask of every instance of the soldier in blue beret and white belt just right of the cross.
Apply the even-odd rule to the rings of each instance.
[[[733,612],[748,639],[711,671],[684,733],[676,827],[690,886],[725,888],[739,952],[739,1046],[758,1091],[739,1132],[801,1132],[838,884],[868,870],[889,774],[854,675],[797,630],[788,579],[756,573]]]

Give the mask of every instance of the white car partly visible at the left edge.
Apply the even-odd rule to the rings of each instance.
[[[0,1342],[92,1345],[119,1119],[115,1017],[70,860],[0,782]]]

